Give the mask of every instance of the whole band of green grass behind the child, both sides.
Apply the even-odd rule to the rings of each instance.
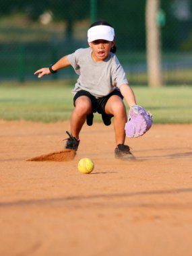
[[[69,82],[4,83],[0,86],[0,119],[57,122],[73,110]],[[192,86],[133,87],[137,104],[149,110],[154,123],[192,123]],[[127,108],[128,110],[129,108]],[[101,121],[100,115],[94,117]]]

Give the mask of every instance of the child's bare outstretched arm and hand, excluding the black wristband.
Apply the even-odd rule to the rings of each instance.
[[[52,66],[52,69],[54,71],[57,71],[58,69],[63,69],[64,67],[69,67],[71,64],[69,63],[69,60],[67,56],[64,56],[63,58],[59,59],[57,63],[55,63]],[[49,70],[49,67],[43,67],[42,69],[38,69],[34,72],[34,75],[38,74],[38,78],[43,77],[44,75],[51,75],[51,71]]]

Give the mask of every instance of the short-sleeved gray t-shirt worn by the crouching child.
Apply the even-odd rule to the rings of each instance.
[[[122,84],[128,84],[123,67],[115,54],[110,53],[104,61],[92,59],[92,49],[78,49],[67,55],[69,63],[79,75],[73,94],[86,90],[96,98],[110,94]],[[118,89],[119,90],[119,89]]]

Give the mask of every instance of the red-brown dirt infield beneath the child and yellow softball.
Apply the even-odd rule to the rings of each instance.
[[[74,160],[27,161],[62,151],[69,127],[0,121],[0,255],[191,256],[192,125],[127,138],[129,162],[114,158],[112,125],[84,125]]]

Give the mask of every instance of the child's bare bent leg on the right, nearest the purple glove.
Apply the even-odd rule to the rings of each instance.
[[[125,123],[127,112],[123,100],[117,96],[111,96],[105,105],[105,113],[114,116],[115,140],[117,145],[125,143]]]

